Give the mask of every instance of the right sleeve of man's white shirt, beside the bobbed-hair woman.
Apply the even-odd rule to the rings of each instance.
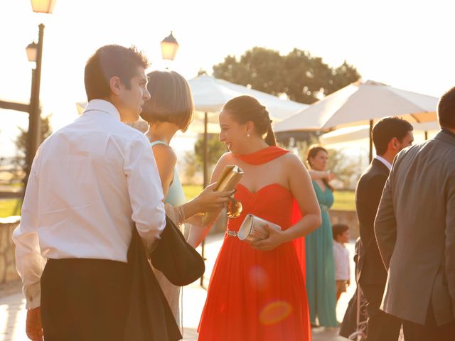
[[[138,136],[127,148],[124,163],[132,220],[147,249],[159,239],[166,224],[163,189],[149,141]]]

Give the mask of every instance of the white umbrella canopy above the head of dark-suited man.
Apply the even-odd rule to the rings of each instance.
[[[387,116],[417,123],[436,121],[437,102],[437,97],[426,94],[359,81],[279,122],[274,131],[329,131]]]

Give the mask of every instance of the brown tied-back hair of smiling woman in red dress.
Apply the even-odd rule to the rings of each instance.
[[[267,134],[264,141],[269,146],[277,145],[269,112],[267,112],[267,109],[255,97],[244,95],[232,98],[224,105],[223,110],[230,112],[235,121],[240,124],[252,121],[255,124],[257,134],[260,136]]]

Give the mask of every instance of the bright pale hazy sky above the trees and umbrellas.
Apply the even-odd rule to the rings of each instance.
[[[254,46],[308,50],[332,66],[343,60],[363,80],[439,97],[455,85],[452,1],[433,0],[57,0],[52,14],[33,13],[30,0],[0,3],[0,99],[28,102],[26,45],[45,24],[41,103],[53,129],[77,117],[85,101],[85,61],[109,43],[136,45],[151,70],[166,66],[188,79],[212,72],[225,56]],[[180,48],[161,60],[170,31]],[[0,109],[0,156],[14,154],[25,113]]]

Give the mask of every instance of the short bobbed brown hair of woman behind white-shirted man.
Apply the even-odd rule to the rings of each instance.
[[[193,120],[193,95],[188,82],[175,71],[153,71],[147,77],[151,98],[144,104],[142,119],[149,123],[170,122],[186,131]]]

